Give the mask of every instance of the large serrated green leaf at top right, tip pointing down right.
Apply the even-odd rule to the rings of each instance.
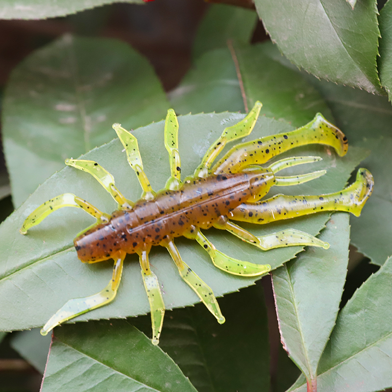
[[[255,5],[272,41],[295,65],[319,78],[382,94],[376,0],[360,1],[354,10],[343,0],[255,0]]]

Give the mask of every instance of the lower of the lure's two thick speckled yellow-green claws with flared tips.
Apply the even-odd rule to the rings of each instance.
[[[373,185],[371,173],[359,169],[355,182],[340,192],[319,196],[276,195],[257,203],[243,203],[230,212],[230,219],[264,224],[320,211],[345,211],[359,217]]]

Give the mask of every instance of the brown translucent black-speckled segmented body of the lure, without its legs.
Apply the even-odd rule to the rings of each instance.
[[[187,180],[177,191],[163,190],[154,200],[137,201],[130,211],[115,211],[109,222],[75,238],[77,256],[95,263],[119,250],[136,253],[146,245],[160,245],[191,226],[209,229],[241,203],[265,196],[274,182],[273,173],[261,168]]]

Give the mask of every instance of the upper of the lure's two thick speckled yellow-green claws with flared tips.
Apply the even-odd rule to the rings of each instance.
[[[323,144],[333,147],[339,156],[347,152],[347,138],[335,125],[318,113],[306,125],[285,133],[265,136],[231,148],[212,168],[214,174],[237,173],[248,165],[266,163],[294,147]]]

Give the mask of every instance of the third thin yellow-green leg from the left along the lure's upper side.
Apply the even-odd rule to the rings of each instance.
[[[142,199],[153,200],[155,192],[152,190],[147,175],[143,170],[142,157],[140,156],[138,141],[130,132],[124,129],[121,124],[113,124],[113,129],[116,131],[121,143],[126,152],[126,158],[129,165],[138,176],[138,180],[143,189]]]

